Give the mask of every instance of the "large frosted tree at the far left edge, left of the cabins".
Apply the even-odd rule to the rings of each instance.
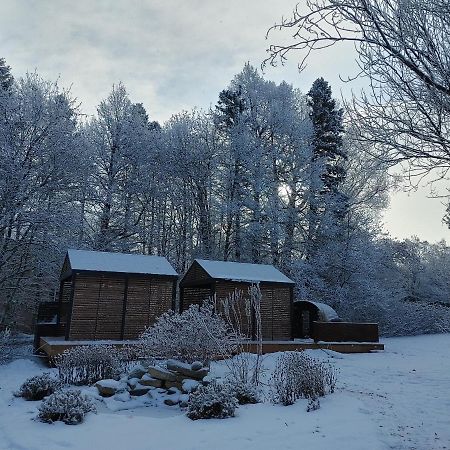
[[[0,93],[0,115],[0,322],[14,325],[52,298],[74,235],[77,116],[69,93],[37,74]]]

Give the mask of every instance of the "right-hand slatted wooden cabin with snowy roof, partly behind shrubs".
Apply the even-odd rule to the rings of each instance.
[[[223,301],[236,290],[246,294],[252,284],[261,289],[263,339],[291,339],[294,282],[271,265],[196,259],[180,281],[180,310],[212,296]]]

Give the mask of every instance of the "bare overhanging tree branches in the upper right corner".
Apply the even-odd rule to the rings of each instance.
[[[410,175],[446,177],[450,167],[450,6],[445,0],[312,0],[273,30],[294,38],[270,47],[271,62],[352,44],[368,88],[349,102],[359,140]],[[350,76],[356,74],[349,74]]]

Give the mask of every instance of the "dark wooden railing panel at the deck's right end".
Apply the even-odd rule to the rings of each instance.
[[[378,342],[378,324],[313,322],[311,337],[316,342]]]

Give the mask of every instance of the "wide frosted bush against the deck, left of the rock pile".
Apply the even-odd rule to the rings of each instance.
[[[63,383],[93,384],[121,373],[122,353],[111,345],[85,345],[56,356],[55,365]]]

